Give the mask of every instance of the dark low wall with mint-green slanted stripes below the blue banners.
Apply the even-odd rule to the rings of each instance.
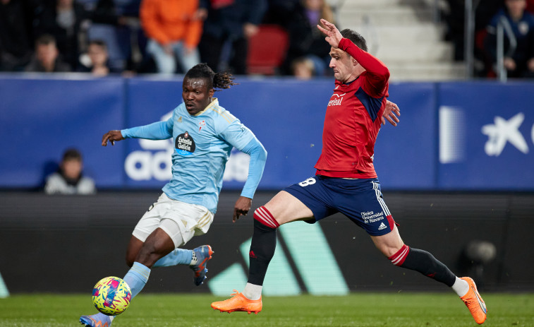
[[[259,192],[253,208],[272,195]],[[158,196],[159,191],[95,196],[1,192],[0,274],[9,292],[90,294],[100,278],[122,277],[131,231]],[[243,288],[253,223],[250,214],[231,222],[237,197],[224,191],[210,232],[186,246],[213,246],[206,285],[195,287],[187,266],[157,268],[144,292],[219,295]],[[384,198],[409,246],[430,251],[458,275],[471,275],[485,292],[534,290],[534,255],[528,250],[534,194],[385,191]],[[430,278],[393,266],[344,216],[286,227],[293,230],[279,231],[274,259],[281,265],[273,263],[267,274],[286,278],[269,286],[266,280],[270,295],[448,291]]]

